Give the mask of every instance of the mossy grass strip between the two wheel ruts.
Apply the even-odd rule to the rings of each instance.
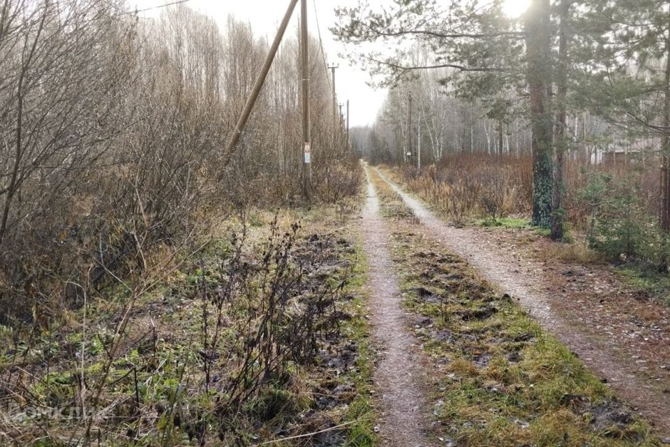
[[[442,445],[659,445],[648,424],[511,297],[422,236],[415,219],[397,211],[406,207],[396,193],[371,175],[382,213],[393,219],[404,304],[433,360],[433,435]]]

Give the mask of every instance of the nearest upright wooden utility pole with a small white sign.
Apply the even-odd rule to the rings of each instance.
[[[303,163],[302,163],[302,192],[307,200],[311,199],[312,169],[311,169],[311,129],[309,125],[309,53],[307,31],[307,0],[300,0],[300,45],[302,68],[302,136],[303,136]]]

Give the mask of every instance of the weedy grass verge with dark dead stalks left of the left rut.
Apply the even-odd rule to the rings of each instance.
[[[26,337],[2,328],[0,444],[71,445],[89,427],[96,446],[374,445],[364,256],[350,216],[321,207],[247,221],[213,230],[132,308],[130,292],[110,286],[69,324]],[[89,417],[82,402],[94,393]]]

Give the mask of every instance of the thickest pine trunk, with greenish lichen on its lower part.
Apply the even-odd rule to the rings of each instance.
[[[549,228],[552,200],[553,119],[551,91],[551,17],[549,0],[532,0],[526,15],[526,56],[533,132],[533,224]]]

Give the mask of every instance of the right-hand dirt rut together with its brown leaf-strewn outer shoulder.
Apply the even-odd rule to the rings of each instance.
[[[660,358],[663,362],[669,355],[670,325],[665,309],[659,306],[649,311],[658,323],[648,330],[636,331],[634,328],[639,329],[640,325],[633,318],[631,328],[618,327],[629,337],[615,337],[608,329],[611,326],[600,321],[602,315],[598,315],[604,312],[603,300],[614,299],[612,291],[604,292],[603,281],[581,281],[579,296],[590,296],[590,299],[582,299],[581,305],[577,303],[575,306],[570,301],[569,290],[561,288],[553,281],[556,278],[549,276],[556,273],[553,270],[537,260],[516,256],[509,245],[482,230],[447,225],[381,173],[380,177],[401,195],[422,221],[426,236],[465,258],[491,284],[519,300],[544,328],[553,332],[621,397],[655,424],[662,436],[670,436],[670,374],[666,374],[670,362],[659,365],[653,374],[644,367],[647,359]],[[566,279],[565,283],[568,282],[572,281]],[[620,306],[610,307],[620,314],[625,312]],[[593,324],[594,321],[601,324]],[[646,334],[642,337],[643,341],[646,339],[646,346],[632,341],[640,333]],[[631,334],[634,337],[630,337]]]

